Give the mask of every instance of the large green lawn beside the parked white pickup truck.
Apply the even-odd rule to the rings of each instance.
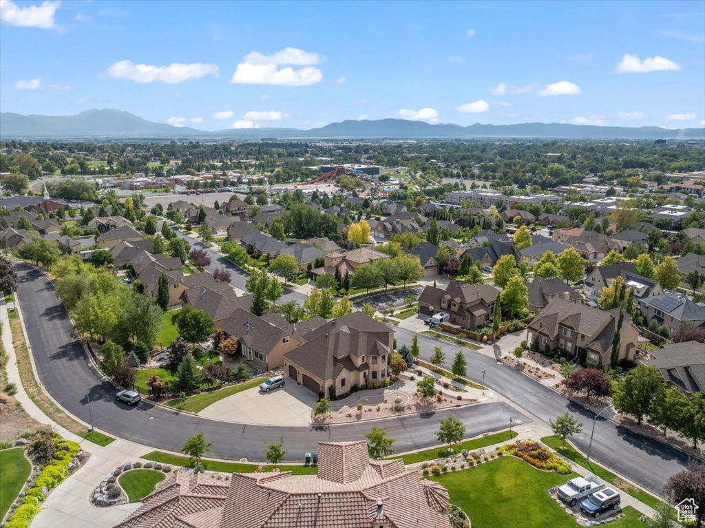
[[[431,477],[450,493],[450,502],[470,516],[472,528],[577,528],[547,491],[577,477],[539,471],[523,460],[504,456],[478,467]],[[611,528],[645,528],[633,508]]]

